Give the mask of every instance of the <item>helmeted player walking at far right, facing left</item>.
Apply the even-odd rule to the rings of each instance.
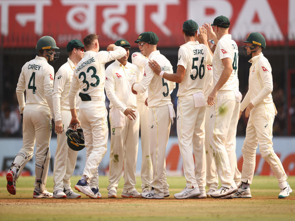
[[[272,102],[272,75],[271,66],[263,55],[262,49],[266,48],[266,39],[261,33],[252,32],[244,41],[247,46],[245,55],[252,55],[249,62],[252,64],[249,70],[249,90],[243,99],[240,107],[240,115],[245,111],[249,117],[246,138],[242,146],[243,169],[242,184],[234,194],[236,198],[251,198],[250,184],[253,180],[255,169],[255,156],[257,144],[259,151],[265,161],[271,167],[279,182],[281,192],[279,198],[286,198],[292,193],[287,182],[287,175],[278,156],[272,148],[272,125],[276,108]]]

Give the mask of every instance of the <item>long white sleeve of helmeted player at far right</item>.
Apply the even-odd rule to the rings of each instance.
[[[257,62],[258,80],[262,90],[259,94],[251,101],[251,103],[256,106],[261,103],[273,89],[271,67],[268,62]],[[262,81],[262,82],[261,82]]]

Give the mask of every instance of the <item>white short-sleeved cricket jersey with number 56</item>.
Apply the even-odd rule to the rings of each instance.
[[[182,65],[186,72],[178,84],[178,97],[203,91],[207,64],[212,64],[212,55],[206,45],[189,41],[180,46],[177,66]]]

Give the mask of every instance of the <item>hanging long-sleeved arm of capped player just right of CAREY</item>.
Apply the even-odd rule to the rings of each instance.
[[[55,132],[57,134],[62,133],[62,121],[61,121],[61,112],[60,112],[60,98],[61,93],[64,90],[64,84],[66,80],[69,78],[69,74],[66,70],[59,69],[56,73],[54,86],[53,86],[53,110],[55,116]]]

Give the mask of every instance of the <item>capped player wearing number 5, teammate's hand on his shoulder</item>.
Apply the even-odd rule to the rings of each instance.
[[[149,59],[156,60],[162,70],[173,73],[170,61],[157,51],[158,36],[152,32],[140,34],[135,43],[138,43],[143,54]],[[170,83],[157,76],[152,69],[145,65],[146,76],[140,83],[132,85],[132,92],[145,92],[148,89],[149,107],[149,140],[150,156],[153,167],[152,190],[141,193],[142,197],[162,199],[169,195],[169,185],[166,178],[165,152],[169,138],[171,121],[175,117],[170,91],[175,88],[175,83]]]

